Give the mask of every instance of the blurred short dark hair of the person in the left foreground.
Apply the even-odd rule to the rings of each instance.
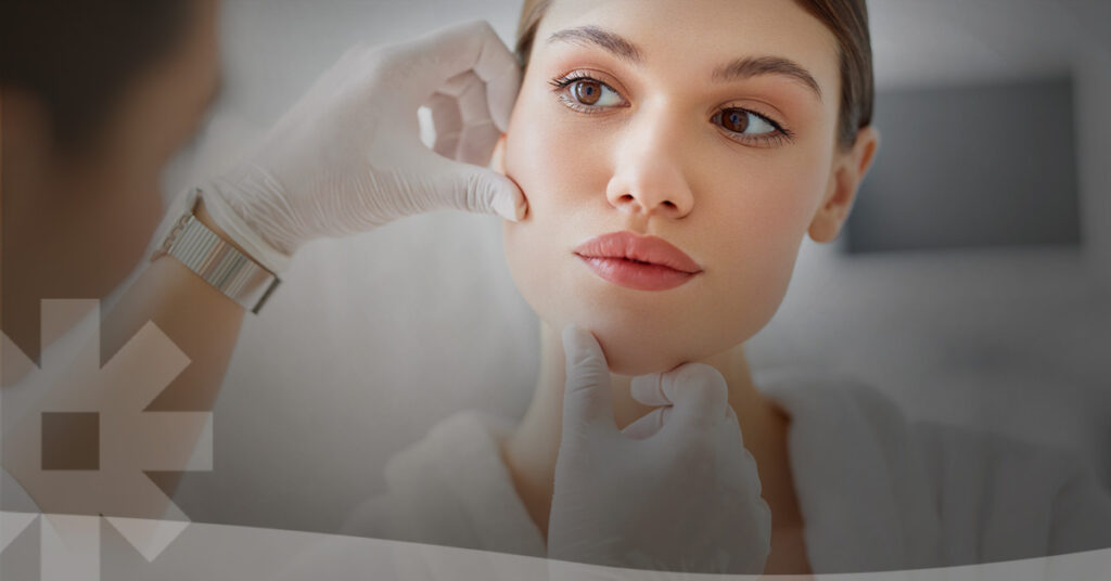
[[[41,99],[54,144],[73,150],[102,129],[127,84],[176,48],[192,0],[2,0],[0,89]]]

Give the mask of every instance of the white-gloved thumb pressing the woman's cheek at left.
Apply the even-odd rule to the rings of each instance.
[[[440,184],[436,188],[436,196],[449,208],[477,213],[497,213],[513,222],[524,218],[528,202],[513,180],[489,168],[452,161],[440,156],[436,158],[438,158],[437,163],[442,166],[429,168],[429,171],[442,176],[442,179],[438,180]]]

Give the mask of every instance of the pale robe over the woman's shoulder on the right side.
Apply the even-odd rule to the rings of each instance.
[[[928,550],[937,555],[923,559],[952,565],[1111,548],[1111,491],[1075,451],[912,418],[850,375],[777,372],[761,387],[792,415],[792,454],[803,455],[792,465],[817,464],[799,468],[827,479],[847,463],[868,467],[858,473],[882,481],[915,519],[904,528],[925,531],[907,530],[908,542],[937,539]],[[875,504],[873,492],[863,505]]]

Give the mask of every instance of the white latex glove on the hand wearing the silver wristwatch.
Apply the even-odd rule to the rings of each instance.
[[[309,240],[429,210],[516,221],[527,209],[520,189],[477,164],[489,164],[520,84],[516,57],[481,20],[357,46],[242,164],[202,184],[206,209],[272,271]],[[420,139],[421,106],[432,112],[434,152]]]

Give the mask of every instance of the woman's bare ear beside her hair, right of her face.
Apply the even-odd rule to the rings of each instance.
[[[851,150],[837,153],[829,188],[818,213],[810,222],[810,238],[815,242],[830,242],[841,233],[841,228],[849,219],[849,212],[857,199],[860,183],[864,181],[879,147],[880,133],[869,126],[857,132],[857,142]]]

